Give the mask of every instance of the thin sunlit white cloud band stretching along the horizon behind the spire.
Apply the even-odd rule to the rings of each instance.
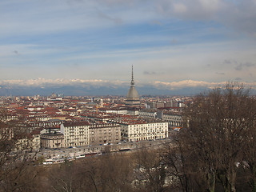
[[[0,86],[30,86],[30,87],[50,87],[50,86],[81,86],[81,87],[113,87],[113,88],[122,88],[128,87],[130,82],[122,81],[107,81],[102,79],[46,79],[46,78],[37,78],[37,79],[28,79],[28,80],[3,80],[0,81]],[[241,82],[246,87],[251,87],[256,89],[256,82]],[[204,82],[204,81],[195,81],[195,80],[183,80],[178,82],[146,82],[139,84],[138,87],[143,86],[154,86],[159,90],[179,90],[184,88],[210,88],[226,85],[226,82]],[[139,88],[138,88],[139,89]]]

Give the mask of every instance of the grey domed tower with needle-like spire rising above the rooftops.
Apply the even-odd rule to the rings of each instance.
[[[138,97],[138,92],[135,89],[135,85],[134,85],[134,66],[132,66],[130,90],[126,95],[126,106],[138,106],[138,105],[140,105],[140,100]]]

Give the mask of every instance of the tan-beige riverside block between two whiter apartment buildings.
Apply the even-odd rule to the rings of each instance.
[[[90,125],[90,145],[118,143],[121,140],[121,126],[114,123]]]

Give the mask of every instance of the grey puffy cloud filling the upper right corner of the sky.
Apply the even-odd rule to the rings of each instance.
[[[256,35],[254,0],[160,0],[158,13],[165,16],[199,21],[214,21],[246,34]]]

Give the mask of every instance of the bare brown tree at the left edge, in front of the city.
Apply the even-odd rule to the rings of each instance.
[[[23,140],[25,130],[18,122],[6,122],[6,111],[0,112],[0,190],[26,191],[37,176],[36,169],[30,169],[34,154],[30,142]]]

